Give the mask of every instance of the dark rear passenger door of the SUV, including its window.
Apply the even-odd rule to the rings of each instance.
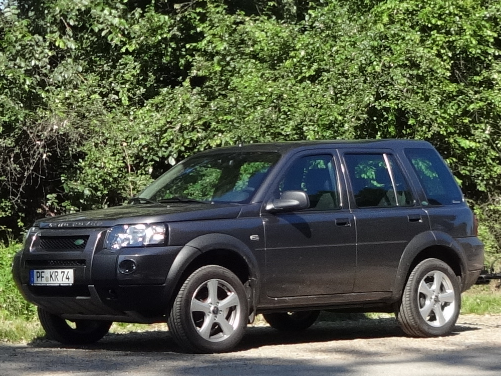
[[[391,150],[342,153],[357,229],[353,292],[391,291],[407,244],[430,229],[427,213]]]

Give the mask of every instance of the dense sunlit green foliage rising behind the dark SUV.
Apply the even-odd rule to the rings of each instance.
[[[420,138],[498,250],[497,0],[26,0],[0,14],[0,225],[116,205],[194,151]]]

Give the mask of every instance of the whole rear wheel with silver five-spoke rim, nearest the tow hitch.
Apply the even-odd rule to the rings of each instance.
[[[460,308],[457,276],[443,261],[426,259],[409,275],[397,320],[408,335],[438,337],[452,331]]]

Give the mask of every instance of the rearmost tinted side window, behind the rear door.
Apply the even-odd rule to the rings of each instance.
[[[405,155],[421,181],[429,205],[453,205],[463,201],[461,190],[434,149],[405,149]]]

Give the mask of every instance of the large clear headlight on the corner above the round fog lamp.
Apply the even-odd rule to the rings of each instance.
[[[165,242],[162,224],[121,225],[108,230],[105,248],[116,251],[124,247],[142,247]]]

